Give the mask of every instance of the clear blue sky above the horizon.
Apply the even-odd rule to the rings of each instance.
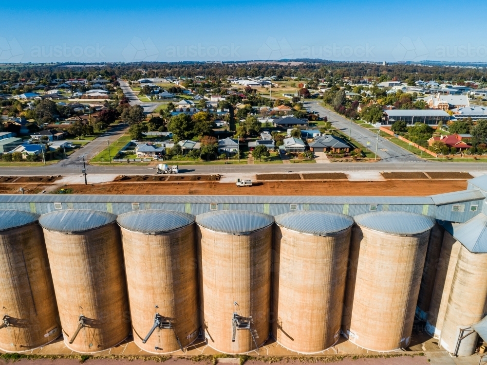
[[[465,6],[451,0],[2,1],[0,62],[485,62],[487,30],[468,20]],[[487,10],[486,2],[469,6],[472,19]]]

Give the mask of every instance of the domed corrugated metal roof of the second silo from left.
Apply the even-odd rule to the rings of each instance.
[[[67,209],[43,214],[39,223],[48,231],[76,233],[89,231],[112,223],[117,216],[88,209]]]

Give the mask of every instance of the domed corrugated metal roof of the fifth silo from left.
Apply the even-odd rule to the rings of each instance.
[[[326,236],[347,229],[354,220],[339,213],[308,210],[281,214],[276,217],[276,223],[300,233]]]

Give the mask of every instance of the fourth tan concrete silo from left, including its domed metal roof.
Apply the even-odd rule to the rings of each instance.
[[[273,222],[244,210],[196,217],[201,321],[218,351],[249,352],[269,336]]]

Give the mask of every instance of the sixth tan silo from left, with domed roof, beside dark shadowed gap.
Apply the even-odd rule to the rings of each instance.
[[[368,213],[355,221],[343,332],[374,351],[407,347],[434,221],[409,212]]]

